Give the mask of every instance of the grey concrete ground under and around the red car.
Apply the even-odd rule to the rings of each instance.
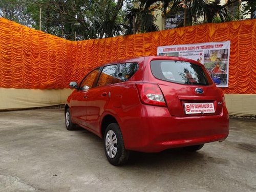
[[[0,112],[0,191],[256,191],[256,121],[230,119],[226,141],[197,153],[134,153],[115,167],[63,109]]]

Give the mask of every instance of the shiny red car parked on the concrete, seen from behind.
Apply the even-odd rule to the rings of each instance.
[[[70,87],[75,90],[65,105],[67,129],[77,124],[103,138],[113,165],[124,163],[130,151],[197,151],[228,136],[224,95],[194,60],[122,60],[92,70]]]

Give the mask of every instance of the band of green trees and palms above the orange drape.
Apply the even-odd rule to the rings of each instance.
[[[230,16],[230,5],[239,0],[0,0],[0,16],[71,40],[113,37],[158,31],[154,11],[185,14],[185,26],[221,23],[256,17],[256,1],[241,0],[238,14]],[[183,24],[183,23],[181,23]]]

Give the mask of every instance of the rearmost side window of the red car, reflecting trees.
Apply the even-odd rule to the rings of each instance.
[[[138,66],[137,62],[121,63],[118,66],[119,67],[118,67],[118,70],[117,70],[117,73],[116,73],[115,83],[127,81],[139,69],[139,66]]]

